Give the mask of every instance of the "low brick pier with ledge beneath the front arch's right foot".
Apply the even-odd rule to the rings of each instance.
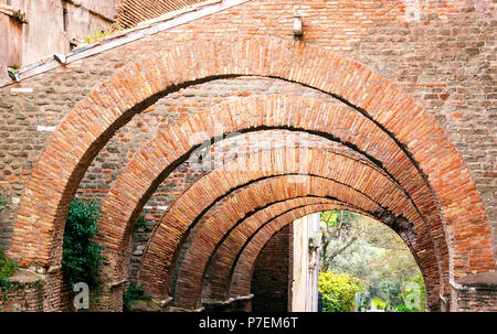
[[[482,272],[465,276],[451,282],[451,311],[497,311],[497,272]]]

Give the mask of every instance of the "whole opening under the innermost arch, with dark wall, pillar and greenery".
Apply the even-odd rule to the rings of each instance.
[[[345,209],[303,216],[271,236],[251,278],[257,312],[423,312],[424,277],[401,236]]]

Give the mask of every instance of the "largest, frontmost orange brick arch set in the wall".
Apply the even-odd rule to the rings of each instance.
[[[458,278],[495,269],[490,230],[474,181],[426,111],[379,75],[331,51],[250,36],[163,45],[145,61],[118,69],[78,103],[44,148],[25,186],[10,255],[21,265],[57,267],[70,202],[116,129],[169,91],[237,75],[297,82],[361,111],[400,144],[433,191],[450,244],[451,274]],[[467,243],[468,237],[474,241]]]

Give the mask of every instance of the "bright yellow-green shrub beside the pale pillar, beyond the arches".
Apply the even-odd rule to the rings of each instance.
[[[352,311],[356,293],[362,291],[364,287],[364,281],[347,273],[321,272],[319,274],[319,292],[322,293],[322,311]]]

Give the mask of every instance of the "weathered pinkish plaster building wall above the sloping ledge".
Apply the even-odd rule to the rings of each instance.
[[[113,26],[116,0],[0,0],[25,13],[28,23],[13,24],[13,20],[0,13],[0,31],[8,31],[8,39],[0,43],[9,43],[15,52],[2,46],[0,63],[6,66],[27,66],[54,53],[67,54],[70,40],[92,36],[98,30],[108,31]],[[14,26],[15,25],[15,26]],[[17,31],[17,30],[21,31]],[[21,34],[21,36],[19,36]],[[21,39],[22,47],[12,41]],[[22,54],[17,55],[20,51]],[[10,55],[17,55],[12,60]],[[4,72],[1,73],[4,76]]]

